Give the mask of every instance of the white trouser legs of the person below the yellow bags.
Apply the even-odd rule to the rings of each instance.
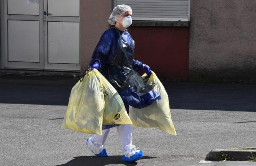
[[[102,135],[93,135],[91,141],[93,144],[104,144],[110,129],[102,130]],[[135,146],[132,145],[132,128],[131,125],[118,125],[117,133],[122,142],[122,150],[124,153],[130,153]]]

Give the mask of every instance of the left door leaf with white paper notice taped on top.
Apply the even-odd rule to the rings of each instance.
[[[43,1],[3,0],[4,68],[44,68]]]

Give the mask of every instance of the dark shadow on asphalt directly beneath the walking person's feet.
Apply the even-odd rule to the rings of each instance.
[[[143,159],[154,159],[156,157],[144,156]],[[126,166],[135,166],[137,162],[123,162],[122,156],[108,156],[108,157],[96,157],[96,156],[80,156],[74,157],[66,164],[58,166],[106,166],[109,164],[124,164]]]

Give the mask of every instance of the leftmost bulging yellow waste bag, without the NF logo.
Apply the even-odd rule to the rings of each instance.
[[[105,109],[103,92],[97,73],[93,70],[88,74],[72,88],[61,127],[102,135],[102,116]]]

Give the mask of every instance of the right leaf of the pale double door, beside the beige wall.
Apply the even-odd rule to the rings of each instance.
[[[45,70],[80,70],[79,4],[44,1]]]

